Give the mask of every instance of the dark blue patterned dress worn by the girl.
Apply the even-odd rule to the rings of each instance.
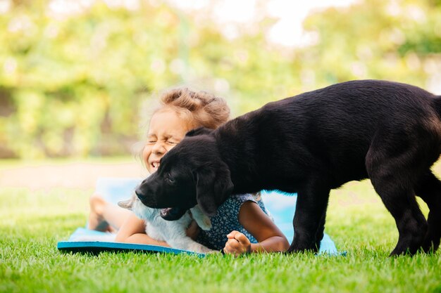
[[[213,228],[209,231],[201,230],[196,241],[210,249],[221,250],[225,247],[225,242],[228,240],[227,235],[232,230],[237,230],[244,233],[251,243],[257,243],[256,238],[245,230],[238,219],[240,207],[242,207],[244,202],[248,201],[259,204],[259,207],[269,216],[268,211],[260,199],[260,195],[232,195],[218,208],[216,215],[211,217],[211,226],[213,226]]]

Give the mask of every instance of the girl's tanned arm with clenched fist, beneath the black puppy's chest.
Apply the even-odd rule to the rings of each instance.
[[[225,253],[237,256],[247,252],[285,252],[290,247],[282,231],[256,202],[244,202],[240,207],[238,219],[258,243],[250,243],[244,234],[232,231],[227,235],[228,241],[223,249]]]

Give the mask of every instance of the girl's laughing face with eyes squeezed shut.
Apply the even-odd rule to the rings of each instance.
[[[170,108],[159,110],[151,117],[147,143],[142,150],[150,174],[159,168],[161,157],[180,143],[189,130],[185,119]]]

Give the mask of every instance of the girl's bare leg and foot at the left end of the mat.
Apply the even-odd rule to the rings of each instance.
[[[132,211],[104,200],[94,193],[89,200],[90,213],[87,228],[98,231],[116,232]]]

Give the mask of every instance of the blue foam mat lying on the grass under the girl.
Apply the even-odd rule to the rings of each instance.
[[[109,202],[116,204],[120,200],[128,199],[140,181],[140,178],[99,178],[96,185],[96,193],[99,193],[99,195],[103,196]],[[291,241],[294,236],[292,218],[294,216],[297,195],[263,192],[262,200],[265,203],[266,209],[268,209],[271,216],[273,216],[275,224],[282,230],[282,233],[285,234],[288,241]],[[77,228],[67,241],[58,242],[57,248],[61,252],[88,252],[92,254],[104,251],[133,251],[172,254],[185,253],[204,256],[204,254],[170,247],[114,242],[114,237],[115,235],[111,233],[89,230],[87,228]],[[319,254],[340,255],[340,253],[337,252],[335,243],[326,233],[321,241]]]

